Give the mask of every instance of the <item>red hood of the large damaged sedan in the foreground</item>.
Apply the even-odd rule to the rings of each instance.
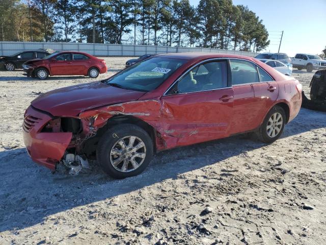
[[[77,116],[96,107],[138,100],[145,93],[91,82],[46,92],[31,104],[53,116]]]

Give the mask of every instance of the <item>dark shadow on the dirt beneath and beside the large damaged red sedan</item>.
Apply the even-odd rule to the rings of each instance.
[[[326,128],[326,113],[302,109],[283,138]],[[52,175],[33,163],[25,149],[0,153],[0,232],[43,222],[48,215],[117,197],[265,144],[233,136],[158,153],[143,174],[125,180],[107,177],[98,167],[78,176]]]

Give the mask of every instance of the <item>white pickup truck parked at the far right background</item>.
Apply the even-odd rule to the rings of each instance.
[[[293,68],[298,70],[307,69],[311,72],[318,69],[326,69],[326,61],[318,55],[296,54],[292,59]]]

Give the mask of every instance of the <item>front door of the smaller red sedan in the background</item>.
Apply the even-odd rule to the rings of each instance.
[[[71,53],[61,53],[50,59],[50,69],[52,75],[71,75]]]

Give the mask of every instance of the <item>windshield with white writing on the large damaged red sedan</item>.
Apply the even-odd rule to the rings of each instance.
[[[167,80],[186,61],[151,58],[122,70],[104,83],[129,90],[152,91]]]

